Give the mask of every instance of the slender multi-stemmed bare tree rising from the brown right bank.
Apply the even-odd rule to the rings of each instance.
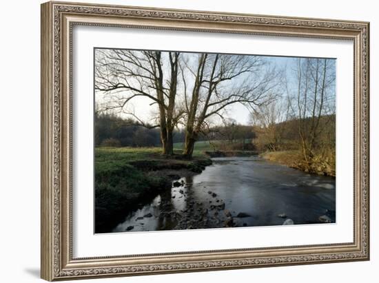
[[[320,134],[327,119],[335,115],[335,67],[329,59],[297,59],[296,94],[291,101],[292,113],[298,119],[298,136],[307,163],[319,147]],[[288,92],[288,90],[287,90]],[[296,106],[294,106],[296,105]],[[321,125],[321,119],[324,119]]]

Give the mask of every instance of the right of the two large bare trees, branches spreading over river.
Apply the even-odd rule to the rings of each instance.
[[[194,143],[209,118],[224,120],[225,109],[235,103],[267,105],[276,98],[280,85],[280,73],[261,56],[202,53],[196,60],[183,60],[180,67],[187,114],[183,154],[187,158],[192,157]]]

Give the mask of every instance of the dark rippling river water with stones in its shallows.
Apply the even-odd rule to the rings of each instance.
[[[256,156],[212,160],[201,174],[173,182],[171,191],[129,213],[113,232],[336,221],[335,178]]]

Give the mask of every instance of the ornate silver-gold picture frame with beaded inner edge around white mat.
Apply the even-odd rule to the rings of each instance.
[[[354,41],[354,242],[72,258],[71,46],[74,25]],[[41,5],[41,277],[70,280],[369,260],[369,23],[48,2]]]

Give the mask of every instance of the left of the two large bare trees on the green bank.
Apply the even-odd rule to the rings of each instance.
[[[100,50],[95,54],[95,90],[104,94],[103,110],[119,109],[139,125],[159,127],[163,154],[173,154],[172,132],[183,111],[175,107],[179,52]],[[157,105],[158,116],[144,121],[127,107],[134,98],[146,97]]]

